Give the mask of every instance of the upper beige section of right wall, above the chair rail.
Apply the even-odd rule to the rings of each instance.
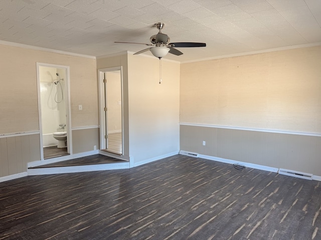
[[[180,121],[321,133],[321,46],[184,63]]]

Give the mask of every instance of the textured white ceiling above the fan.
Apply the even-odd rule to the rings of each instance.
[[[147,48],[162,30],[189,61],[321,44],[321,0],[0,0],[0,40],[102,56]],[[146,54],[151,54],[149,51]]]

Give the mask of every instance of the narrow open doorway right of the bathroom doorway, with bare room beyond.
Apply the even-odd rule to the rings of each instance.
[[[123,155],[122,71],[99,69],[100,149]]]

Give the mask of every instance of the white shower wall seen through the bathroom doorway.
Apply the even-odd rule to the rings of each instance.
[[[64,78],[60,83],[55,84],[59,78]],[[60,129],[59,124],[66,124],[66,73],[65,69],[40,66],[40,91],[41,91],[41,116],[43,130],[43,146],[57,145],[58,141],[52,133],[56,131],[65,131]],[[62,86],[62,92],[60,88]],[[56,94],[57,93],[57,94]],[[57,103],[56,101],[59,103]]]

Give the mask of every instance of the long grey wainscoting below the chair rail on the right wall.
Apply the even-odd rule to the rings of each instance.
[[[181,124],[180,139],[184,151],[321,175],[320,136]]]

